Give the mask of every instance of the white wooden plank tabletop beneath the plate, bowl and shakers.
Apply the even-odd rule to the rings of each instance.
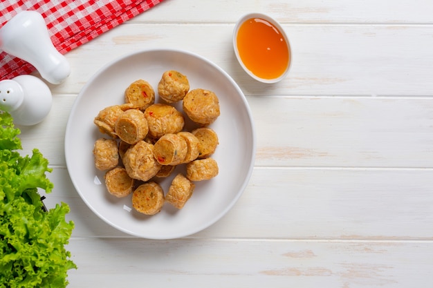
[[[293,50],[279,84],[252,80],[234,23],[264,12]],[[431,287],[433,3],[430,0],[165,0],[66,55],[53,109],[21,129],[24,153],[53,167],[48,207],[75,222],[69,287]],[[113,229],[68,176],[64,133],[86,81],[142,48],[178,48],[221,66],[255,119],[250,183],[212,227],[176,240]]]

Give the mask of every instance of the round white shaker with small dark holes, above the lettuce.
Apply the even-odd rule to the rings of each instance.
[[[0,110],[7,111],[18,125],[41,122],[50,112],[53,96],[41,79],[20,75],[0,81]]]

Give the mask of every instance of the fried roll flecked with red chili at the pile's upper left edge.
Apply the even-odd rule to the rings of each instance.
[[[138,79],[125,90],[125,102],[142,111],[155,102],[155,91],[149,82]]]

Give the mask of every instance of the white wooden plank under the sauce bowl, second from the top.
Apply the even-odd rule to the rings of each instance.
[[[275,85],[261,84],[241,69],[232,49],[233,27],[119,26],[68,52],[71,76],[50,87],[55,94],[78,93],[97,70],[128,52],[176,48],[221,66],[246,95],[433,95],[433,26],[284,25],[293,61],[288,77]]]

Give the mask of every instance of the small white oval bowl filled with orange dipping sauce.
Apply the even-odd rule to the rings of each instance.
[[[244,23],[246,23],[246,25],[248,23],[255,24],[255,27],[250,26],[250,32],[244,32],[246,31],[245,26],[243,26]],[[257,28],[257,32],[254,31],[255,28]],[[239,30],[241,30],[241,32],[239,32]],[[266,39],[264,41],[264,39],[259,38],[260,35],[262,37],[266,37],[266,39],[272,38],[269,40],[269,45],[281,42],[281,44],[277,44],[277,46],[284,57],[279,57],[279,54],[274,54],[271,55],[273,59],[268,59],[268,55],[270,55],[269,52],[273,49],[273,47],[270,46],[262,47],[263,49],[257,51],[253,50],[253,48],[258,47],[258,44],[268,45],[266,44]],[[239,36],[241,39],[246,40],[246,43],[242,44]],[[284,79],[284,77],[286,77],[291,66],[291,46],[289,44],[286,32],[284,32],[282,26],[275,19],[268,15],[261,13],[248,13],[243,15],[243,17],[241,17],[234,26],[233,48],[234,54],[236,55],[243,70],[245,70],[246,73],[248,73],[248,75],[250,75],[253,79],[263,83],[276,83],[281,81]],[[248,50],[248,53],[246,53],[245,50]],[[260,55],[255,55],[254,53],[256,52]],[[246,54],[249,54],[249,56],[246,56]],[[261,68],[257,68],[257,63],[251,64],[252,61],[256,61],[257,59],[262,59],[260,61],[263,70],[260,70]],[[266,70],[266,72],[264,70]]]

